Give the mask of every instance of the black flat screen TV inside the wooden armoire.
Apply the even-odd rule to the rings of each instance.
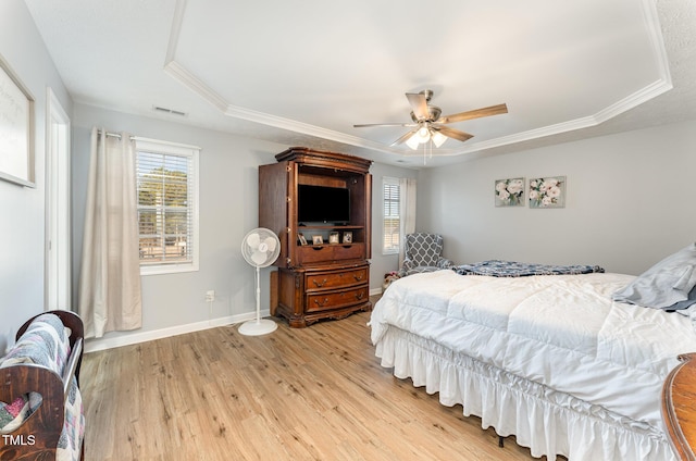
[[[297,217],[303,224],[347,224],[350,222],[350,191],[340,187],[300,184]]]

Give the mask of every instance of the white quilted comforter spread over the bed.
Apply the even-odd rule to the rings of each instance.
[[[696,351],[688,317],[613,302],[623,274],[461,276],[394,282],[372,312],[372,341],[388,325],[457,352],[662,427],[662,382]]]

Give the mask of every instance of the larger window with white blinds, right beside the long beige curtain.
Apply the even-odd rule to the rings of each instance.
[[[199,149],[136,140],[140,273],[198,270]]]

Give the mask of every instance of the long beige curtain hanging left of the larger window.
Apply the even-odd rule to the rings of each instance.
[[[78,313],[85,336],[141,326],[135,141],[92,128]]]

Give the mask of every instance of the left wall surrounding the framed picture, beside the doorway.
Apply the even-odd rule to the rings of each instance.
[[[0,54],[35,99],[36,188],[0,180],[0,356],[17,327],[44,311],[46,94],[70,114],[72,101],[21,0],[0,1]]]

